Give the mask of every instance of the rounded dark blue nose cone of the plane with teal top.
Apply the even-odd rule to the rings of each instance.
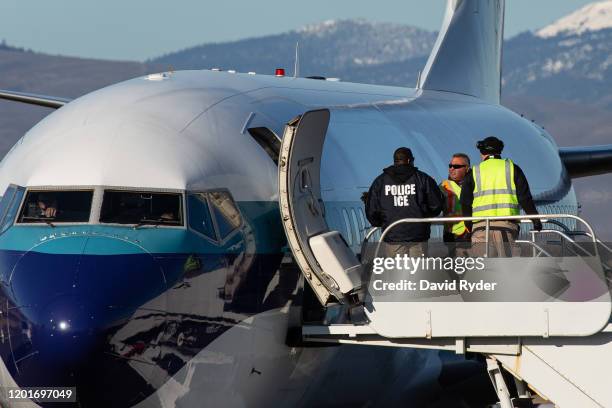
[[[113,338],[149,302],[165,309],[164,275],[154,257],[133,242],[99,236],[35,249],[17,263],[9,282],[12,367],[6,365],[17,384],[77,386],[82,404],[98,393],[110,395],[104,387],[117,391],[114,398],[137,398],[147,381],[117,355]]]

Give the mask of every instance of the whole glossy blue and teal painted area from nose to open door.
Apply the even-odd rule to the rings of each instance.
[[[278,223],[277,210],[239,211],[243,222],[218,244],[177,228],[10,228],[0,236],[0,353],[11,376],[77,386],[85,406],[131,406],[225,331],[286,305],[299,274],[279,277],[284,242],[260,228],[257,248],[253,232]],[[17,242],[31,249],[8,249]]]

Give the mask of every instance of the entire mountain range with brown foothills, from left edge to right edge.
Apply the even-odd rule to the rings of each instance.
[[[0,31],[1,32],[1,31]],[[0,88],[77,97],[145,73],[167,69],[234,69],[414,87],[437,33],[365,20],[330,20],[277,35],[203,44],[142,63],[35,53],[0,43]],[[561,146],[612,143],[612,0],[596,2],[536,32],[507,39],[503,98],[511,109],[543,124]],[[0,155],[48,109],[0,101]],[[612,176],[578,180],[585,214],[603,221]]]

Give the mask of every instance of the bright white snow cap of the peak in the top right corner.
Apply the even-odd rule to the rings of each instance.
[[[562,35],[580,35],[587,31],[598,31],[612,28],[612,0],[588,4],[549,26],[539,30],[536,35],[541,38]]]

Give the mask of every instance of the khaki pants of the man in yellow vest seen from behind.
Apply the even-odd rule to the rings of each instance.
[[[486,253],[485,222],[476,222],[472,227],[473,256]],[[510,221],[491,221],[489,223],[489,258],[520,256],[520,248],[514,243],[518,238],[519,227]]]

